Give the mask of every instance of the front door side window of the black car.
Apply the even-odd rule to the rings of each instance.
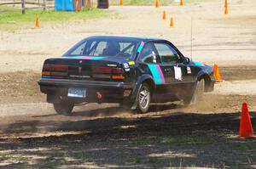
[[[176,64],[180,61],[180,56],[177,51],[167,43],[157,42],[154,43],[162,64]]]

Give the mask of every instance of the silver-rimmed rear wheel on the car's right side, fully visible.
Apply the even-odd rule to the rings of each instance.
[[[151,101],[151,90],[147,83],[143,83],[137,94],[137,111],[147,113]]]

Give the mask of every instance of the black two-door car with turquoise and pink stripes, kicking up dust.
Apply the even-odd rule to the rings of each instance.
[[[119,103],[143,113],[150,103],[191,104],[214,82],[212,67],[164,39],[97,36],[46,59],[38,84],[58,114],[70,115],[84,103]]]

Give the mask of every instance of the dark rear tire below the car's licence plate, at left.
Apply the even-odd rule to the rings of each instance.
[[[73,103],[68,101],[62,101],[59,103],[54,103],[55,112],[59,115],[71,115],[73,110]]]

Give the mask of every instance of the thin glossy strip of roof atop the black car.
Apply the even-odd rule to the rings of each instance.
[[[166,41],[166,39],[160,39],[157,37],[134,37],[134,36],[92,36],[88,38],[118,38],[118,39],[134,39],[138,41],[143,42],[149,42],[149,41]]]

